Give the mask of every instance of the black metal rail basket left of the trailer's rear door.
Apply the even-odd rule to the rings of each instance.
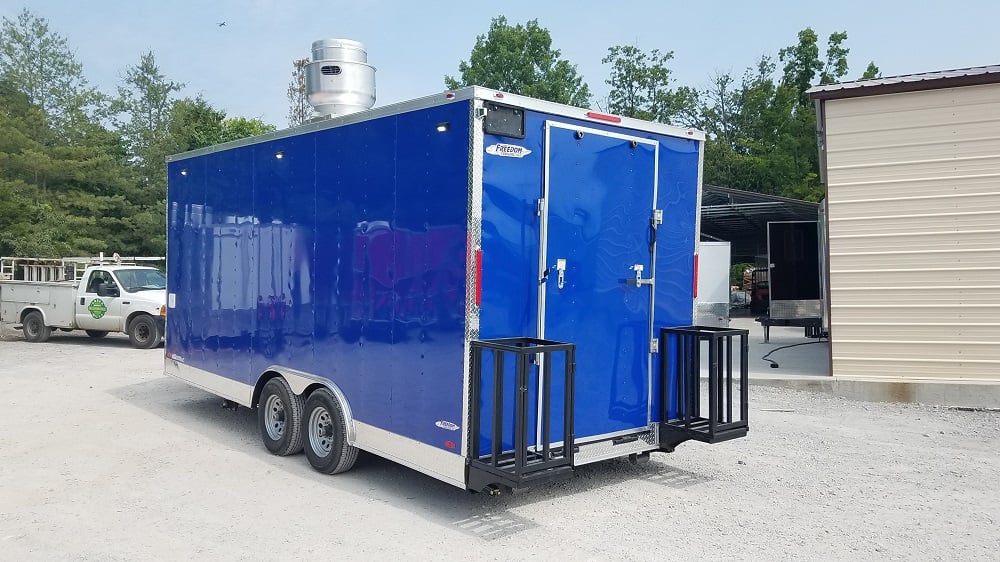
[[[477,340],[472,345],[469,402],[469,449],[466,458],[466,485],[473,491],[482,491],[489,486],[505,486],[511,489],[527,487],[542,481],[569,478],[573,474],[573,375],[576,370],[576,346],[535,338],[502,338]],[[483,352],[490,350],[493,355],[492,396],[487,396],[487,404],[492,409],[490,441],[491,450],[480,455],[480,430],[483,400]],[[550,439],[552,423],[552,356],[562,353],[563,369],[563,436],[562,443],[553,446]],[[504,377],[505,357],[513,355],[515,363],[514,380]],[[541,367],[541,376],[534,377],[536,358]],[[490,375],[487,375],[490,376]],[[533,381],[534,379],[534,381]],[[514,384],[511,385],[511,382]],[[529,414],[534,404],[529,406],[529,394],[535,382],[537,396],[541,398],[541,412],[537,423],[541,424],[542,441],[528,445]],[[513,386],[513,388],[510,388]],[[504,397],[513,399],[504,402]],[[513,418],[509,417],[513,415]],[[503,434],[505,420],[513,420],[513,450],[504,450]],[[509,425],[509,421],[508,421]]]

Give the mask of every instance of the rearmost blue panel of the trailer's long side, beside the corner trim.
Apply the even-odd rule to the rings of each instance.
[[[459,453],[465,365],[469,106],[396,118],[390,431]],[[438,125],[446,130],[438,131]]]

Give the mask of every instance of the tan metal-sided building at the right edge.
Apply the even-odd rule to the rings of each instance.
[[[810,94],[834,377],[1000,382],[1000,65]]]

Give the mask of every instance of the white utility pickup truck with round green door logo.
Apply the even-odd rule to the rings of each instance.
[[[3,259],[0,322],[19,324],[24,339],[42,342],[60,329],[92,338],[125,332],[140,349],[160,343],[167,307],[159,269],[98,262],[79,274],[60,260]]]

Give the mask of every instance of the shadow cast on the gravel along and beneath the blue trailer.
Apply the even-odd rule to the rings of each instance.
[[[316,473],[304,455],[276,457],[267,452],[257,434],[256,412],[222,407],[222,399],[164,377],[113,389],[115,397],[216,441],[239,449],[310,485],[330,487],[366,501],[381,501],[406,509],[414,516],[482,540],[495,540],[538,527],[538,523],[510,510],[539,502],[561,501],[576,494],[644,480],[671,488],[685,488],[710,478],[683,471],[656,455],[647,463],[614,459],[578,467],[575,477],[515,494],[473,494],[376,455],[362,453],[349,472],[335,476]]]

